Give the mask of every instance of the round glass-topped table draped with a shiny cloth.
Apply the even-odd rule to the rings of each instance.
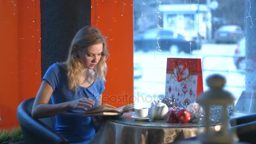
[[[91,144],[166,144],[197,136],[204,129],[204,125],[196,123],[166,123],[154,119],[136,121],[131,115],[132,112],[109,118]]]

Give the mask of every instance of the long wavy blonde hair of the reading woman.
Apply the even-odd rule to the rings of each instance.
[[[82,50],[88,48],[91,45],[103,44],[103,51],[101,53],[101,59],[96,65],[96,72],[93,75],[93,79],[99,77],[99,80],[106,82],[107,64],[106,59],[109,56],[107,51],[107,44],[101,32],[94,27],[83,27],[80,29],[72,40],[69,47],[69,54],[67,61],[59,63],[67,72],[67,83],[72,91],[77,91],[78,85],[80,85],[81,72],[84,69],[83,63],[79,57],[74,53],[75,48]],[[94,69],[95,69],[94,68]]]

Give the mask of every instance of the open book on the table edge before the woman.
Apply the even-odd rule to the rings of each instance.
[[[133,112],[134,104],[127,104],[121,110],[109,104],[102,104],[83,113],[83,116],[117,116],[123,112]]]

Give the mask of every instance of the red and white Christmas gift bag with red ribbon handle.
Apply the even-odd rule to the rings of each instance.
[[[186,104],[197,101],[201,92],[201,59],[167,58],[165,96]]]

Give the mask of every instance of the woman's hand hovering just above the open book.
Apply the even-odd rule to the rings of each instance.
[[[70,101],[70,107],[71,109],[84,109],[87,110],[86,107],[92,107],[94,105],[94,101],[92,99],[88,98],[81,98],[77,99],[75,101]]]

